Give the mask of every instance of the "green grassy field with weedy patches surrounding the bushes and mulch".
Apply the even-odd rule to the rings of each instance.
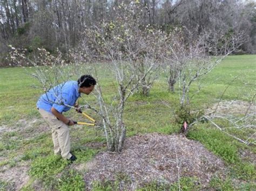
[[[26,68],[26,72],[33,68]],[[252,101],[255,94],[256,55],[228,56],[220,65],[208,74],[201,84],[201,91],[194,96],[192,108],[208,109],[216,104],[223,92],[221,103],[235,101],[235,111],[242,110]],[[100,84],[107,100],[114,95],[114,81],[111,74],[100,72]],[[235,80],[233,80],[235,79]],[[37,82],[23,68],[0,69],[0,190],[84,190],[86,173],[95,156],[106,150],[102,131],[86,126],[71,127],[71,146],[78,160],[74,164],[53,155],[51,133],[36,109],[36,101],[41,94],[33,88]],[[192,91],[196,91],[196,84]],[[93,104],[95,97],[84,96]],[[83,102],[83,101],[82,101]],[[255,109],[255,103],[254,109]],[[173,111],[178,108],[179,95],[167,91],[167,81],[160,76],[151,89],[150,96],[134,94],[125,108],[127,137],[145,133],[176,135],[180,126],[174,123]],[[242,111],[241,111],[242,112]],[[255,110],[254,110],[255,112]],[[75,111],[66,115],[80,118]],[[90,115],[94,115],[90,113]],[[93,116],[97,119],[97,116]],[[80,118],[82,119],[82,118]],[[222,124],[225,126],[225,123]],[[232,129],[229,132],[240,138],[246,138],[246,129]],[[250,132],[255,133],[255,131]],[[255,190],[255,145],[245,145],[227,136],[210,123],[201,123],[188,131],[188,139],[197,140],[215,154],[225,166],[225,177],[211,177],[207,189],[212,190]],[[254,136],[255,138],[255,136]],[[115,176],[115,175],[114,175]],[[123,177],[124,176],[124,177]],[[93,182],[94,190],[119,190],[127,179]],[[120,177],[120,175],[119,175]],[[183,190],[203,189],[194,183],[196,176],[180,177]],[[131,181],[131,180],[129,180]],[[127,182],[129,182],[127,181]],[[178,190],[177,182],[168,188]],[[145,183],[138,190],[166,189],[157,181]]]

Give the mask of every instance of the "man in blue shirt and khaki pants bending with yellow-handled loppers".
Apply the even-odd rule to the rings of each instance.
[[[62,113],[70,110],[70,106],[76,105],[81,93],[89,95],[95,85],[96,80],[92,76],[83,75],[78,81],[64,82],[51,88],[37,102],[40,114],[51,128],[54,153],[60,153],[63,158],[70,161],[76,160],[76,156],[70,153],[68,128],[74,123]]]

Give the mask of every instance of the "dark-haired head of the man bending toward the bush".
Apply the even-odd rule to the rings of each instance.
[[[89,95],[96,85],[96,80],[91,75],[82,75],[78,80],[79,93]]]

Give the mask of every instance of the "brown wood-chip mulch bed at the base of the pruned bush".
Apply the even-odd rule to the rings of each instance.
[[[93,181],[114,181],[118,176],[120,180],[125,175],[130,181],[123,188],[135,190],[152,181],[177,182],[178,174],[196,177],[206,187],[214,174],[224,177],[225,172],[223,161],[199,142],[158,133],[127,138],[122,153],[102,152],[92,163],[84,176],[86,189],[91,189]]]

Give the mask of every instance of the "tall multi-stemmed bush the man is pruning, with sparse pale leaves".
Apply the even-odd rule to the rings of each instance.
[[[98,58],[110,60],[108,67],[116,77],[118,96],[114,109],[108,109],[100,86],[97,96],[110,151],[120,152],[123,148],[126,135],[123,113],[127,98],[138,88],[148,94],[157,76],[155,71],[164,36],[150,27],[139,29],[141,12],[139,4],[121,3],[116,19],[86,31],[88,38],[84,45],[89,47],[86,49],[90,49],[92,57],[97,54]]]

